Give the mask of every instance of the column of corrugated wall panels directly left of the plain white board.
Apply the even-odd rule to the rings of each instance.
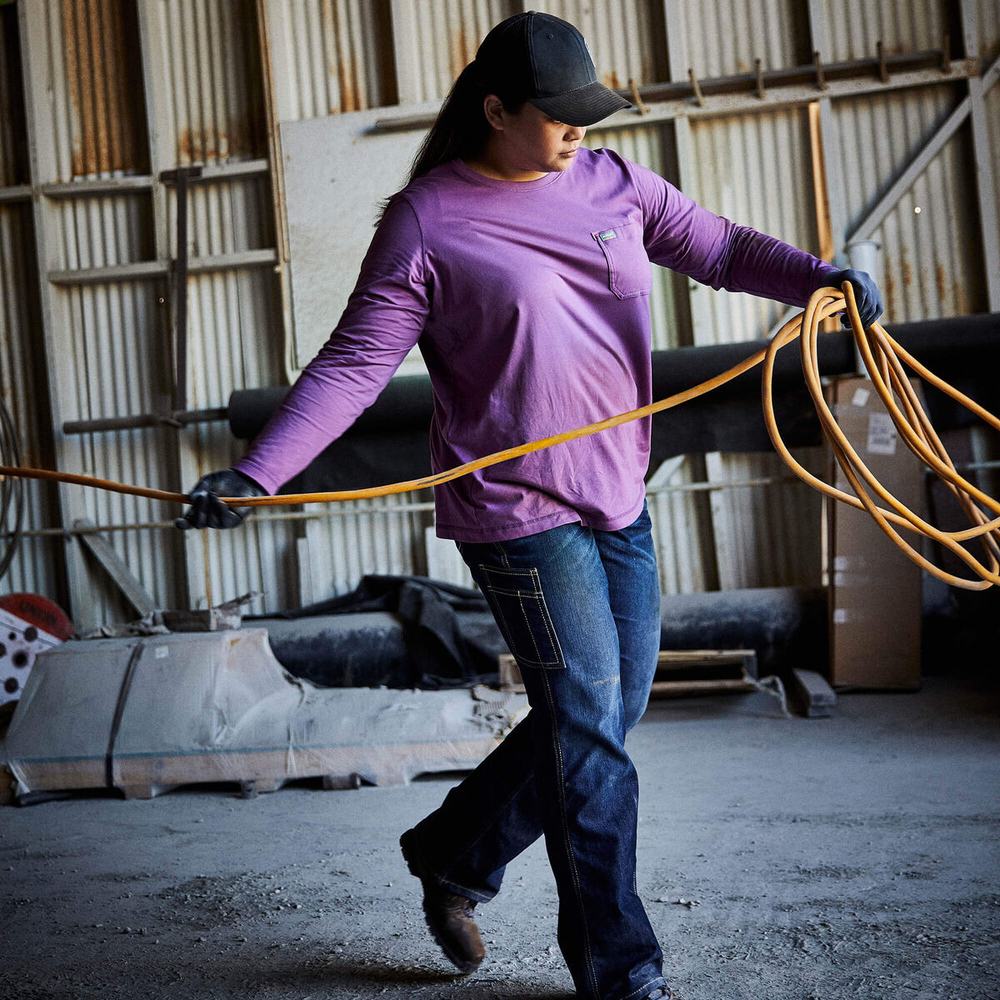
[[[331,16],[339,11],[329,6]],[[264,76],[252,0],[185,0],[140,7],[146,39],[149,115],[157,124],[154,173],[190,164],[233,167],[267,156]],[[176,256],[176,187],[157,202],[161,253]],[[271,188],[252,172],[194,184],[188,195],[190,257],[219,260],[275,245]],[[284,365],[273,267],[209,268],[188,277],[188,406],[225,406],[235,389],[275,385]],[[225,423],[178,435],[178,475],[188,488],[243,451]],[[171,512],[175,513],[175,512]],[[264,592],[257,612],[297,599],[295,528],[260,519],[245,530],[186,532],[183,568],[189,603],[206,607],[249,590]]]

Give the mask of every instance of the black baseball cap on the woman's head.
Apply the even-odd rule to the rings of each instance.
[[[552,14],[528,10],[501,21],[483,39],[474,62],[484,86],[519,77],[528,101],[567,125],[593,125],[632,107],[598,81],[579,30]]]

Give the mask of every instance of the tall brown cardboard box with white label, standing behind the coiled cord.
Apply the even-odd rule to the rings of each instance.
[[[828,388],[827,399],[865,465],[907,507],[922,514],[923,464],[899,439],[871,382],[838,379]],[[830,464],[828,482],[853,495],[832,454]],[[920,567],[866,511],[830,499],[826,528],[830,683],[915,690],[920,686]],[[902,534],[910,542],[917,538]]]

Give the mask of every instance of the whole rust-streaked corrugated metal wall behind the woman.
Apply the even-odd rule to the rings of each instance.
[[[73,437],[57,429],[41,440],[32,432],[53,421],[170,407],[165,265],[177,249],[176,194],[163,172],[194,165],[217,174],[189,189],[188,253],[198,266],[187,282],[187,405],[221,406],[235,388],[279,384],[289,370],[281,331],[290,306],[275,273],[284,253],[275,225],[280,178],[268,166],[277,123],[437,100],[489,27],[523,6],[22,0],[0,10],[2,385],[39,464],[176,488],[232,461],[242,445],[219,423]],[[957,23],[943,0],[532,6],[577,23],[601,78],[622,87],[630,78],[640,85],[685,79],[689,67],[702,79],[752,71],[758,58],[765,69],[798,65],[816,46],[828,62],[870,57],[880,40],[887,53],[933,49]],[[970,0],[963,7],[977,14],[983,56],[995,56],[1000,5]],[[17,58],[22,44],[31,55],[24,64]],[[957,38],[951,44],[957,51]],[[23,96],[22,76],[29,84]],[[838,250],[966,93],[955,79],[827,101]],[[26,121],[19,117],[22,100]],[[1000,87],[988,94],[986,109],[995,165]],[[37,149],[31,176],[26,129]],[[872,235],[884,247],[884,289],[896,320],[988,305],[979,247],[969,236],[979,225],[970,143],[969,130],[959,129]],[[809,117],[801,102],[714,117],[681,112],[653,124],[592,130],[588,144],[613,146],[707,207],[818,250]],[[1000,199],[995,169],[992,180]],[[18,194],[29,181],[47,193]],[[99,189],[88,187],[95,182]],[[19,271],[13,264],[36,257],[40,282],[30,266]],[[150,261],[164,268],[152,276],[92,270]],[[784,312],[667,272],[657,275],[651,310],[657,348],[756,337]],[[40,351],[31,337],[36,315],[46,320],[51,407],[32,381]],[[804,458],[810,466],[819,462]],[[818,501],[781,481],[783,467],[773,456],[688,456],[651,471],[666,591],[819,581]],[[732,485],[761,478],[776,481]],[[450,566],[449,573],[457,569],[467,579],[453,553],[428,540],[429,494],[345,505],[308,520],[262,516],[240,531],[178,537],[168,520],[176,512],[164,505],[73,487],[50,491],[48,504],[37,484],[27,493],[33,528],[77,517],[163,524],[109,539],[166,606],[204,606],[261,589],[267,599],[257,610],[273,610],[348,589],[364,572],[425,572],[428,565]],[[64,544],[25,540],[5,583],[55,594]],[[77,542],[68,544],[76,551]],[[71,556],[67,567],[74,600],[86,590],[80,603],[95,621],[133,615],[90,560]]]

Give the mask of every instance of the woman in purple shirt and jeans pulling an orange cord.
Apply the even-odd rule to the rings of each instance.
[[[714,288],[802,305],[867,275],[699,208],[651,170],[581,142],[629,107],[597,82],[582,35],[528,12],[463,70],[387,202],[329,341],[232,469],[204,477],[179,523],[231,527],[378,396],[414,344],[434,389],[432,465],[448,469],[651,401],[649,262]],[[463,971],[483,959],[478,902],[544,835],[558,938],[579,995],[671,996],[636,892],[638,784],[625,734],[656,666],[660,595],[646,509],[650,421],[435,488],[521,667],[528,717],[401,838],[427,923]]]

